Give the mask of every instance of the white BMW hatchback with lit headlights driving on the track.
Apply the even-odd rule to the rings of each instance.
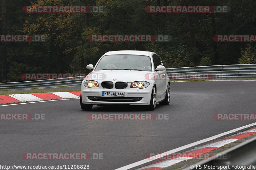
[[[158,55],[149,51],[109,51],[102,55],[81,85],[83,110],[92,105],[169,105],[170,81]]]

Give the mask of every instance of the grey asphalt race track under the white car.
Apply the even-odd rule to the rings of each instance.
[[[0,120],[1,165],[90,165],[116,169],[145,159],[147,153],[177,147],[255,121],[217,121],[215,113],[255,113],[256,81],[172,82],[171,103],[155,111],[131,106],[80,109],[79,99],[0,107],[0,113],[45,114],[45,120]],[[169,120],[92,121],[89,113],[169,114]],[[23,153],[86,152],[103,159],[24,160]]]

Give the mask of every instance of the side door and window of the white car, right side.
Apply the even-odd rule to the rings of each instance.
[[[165,86],[166,86],[166,70],[163,71],[156,71],[156,67],[158,65],[163,65],[158,55],[153,54],[153,63],[154,63],[154,74],[156,75],[156,98],[161,98],[165,93]]]

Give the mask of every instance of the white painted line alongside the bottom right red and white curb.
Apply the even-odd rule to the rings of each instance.
[[[167,151],[167,152],[164,152],[164,153],[161,153],[159,155],[155,155],[153,157],[150,157],[150,158],[147,158],[147,159],[143,159],[143,160],[140,160],[138,162],[135,162],[135,163],[132,163],[132,164],[129,164],[129,165],[126,165],[126,166],[123,166],[123,167],[120,167],[120,168],[117,168],[115,170],[127,170],[127,169],[131,169],[131,168],[134,168],[134,167],[137,167],[137,166],[141,166],[143,164],[146,164],[146,163],[149,163],[152,161],[152,159],[154,159],[154,157],[159,157],[159,158],[162,158],[164,157],[163,155],[165,154],[170,154],[170,153],[178,153],[179,151],[181,150],[186,150],[190,147],[194,147],[198,144],[203,144],[203,143],[206,143],[206,142],[209,142],[211,140],[214,140],[214,139],[217,139],[219,137],[222,137],[222,136],[225,136],[225,135],[228,135],[230,133],[234,133],[234,132],[237,132],[239,130],[242,130],[242,129],[246,129],[246,128],[249,128],[249,127],[252,127],[252,126],[256,126],[256,122],[255,123],[251,123],[251,124],[248,124],[248,125],[245,125],[245,126],[242,126],[240,128],[236,128],[236,129],[232,129],[232,130],[229,130],[227,132],[223,132],[223,133],[220,133],[218,135],[215,135],[215,136],[212,136],[212,137],[208,137],[206,139],[202,139],[200,141],[197,141],[197,142],[194,142],[194,143],[191,143],[191,144],[187,144],[187,145],[184,145],[184,146],[181,146],[179,148],[176,148],[176,149],[172,149],[170,151]]]

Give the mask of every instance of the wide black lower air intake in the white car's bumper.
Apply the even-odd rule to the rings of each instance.
[[[109,102],[125,102],[125,101],[140,101],[142,97],[94,97],[88,96],[92,101],[109,101]]]

